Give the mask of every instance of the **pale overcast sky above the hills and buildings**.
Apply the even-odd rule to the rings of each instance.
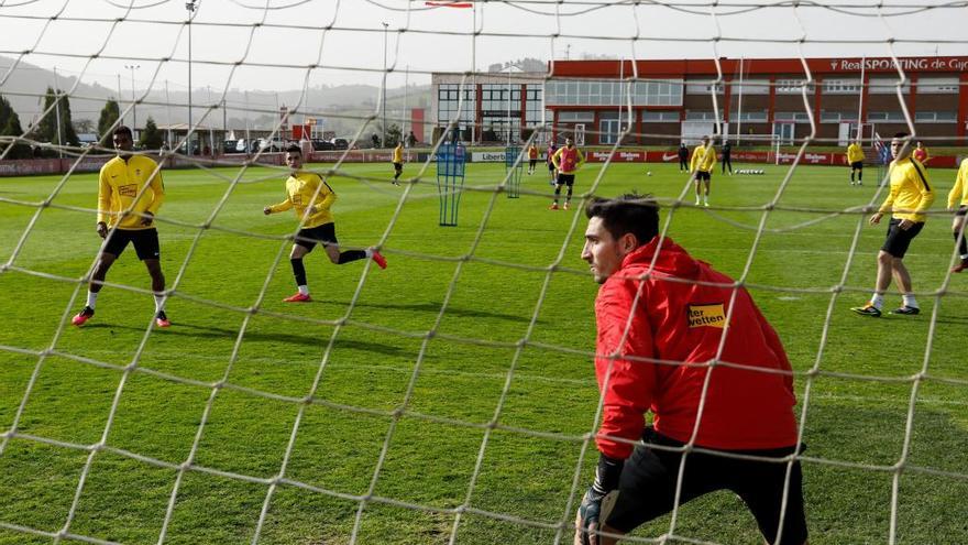
[[[389,87],[404,84],[407,68],[410,83],[427,84],[430,72],[485,70],[526,56],[796,57],[801,51],[804,56],[887,56],[892,37],[898,55],[968,55],[968,8],[952,8],[963,2],[949,0],[883,0],[891,8],[880,11],[873,8],[877,0],[821,0],[824,8],[777,7],[781,2],[774,0],[721,0],[716,8],[700,0],[638,7],[490,0],[474,10],[428,8],[422,0],[197,3],[193,87],[210,86],[213,92],[299,89],[307,81],[380,85],[384,22],[387,66],[396,70]],[[854,7],[838,7],[847,4]],[[919,9],[926,7],[933,9]],[[125,65],[138,65],[136,88],[160,89],[168,80],[172,88],[186,89],[187,14],[184,0],[0,0],[0,54],[31,51],[23,58],[28,63],[84,73],[85,81],[111,88],[120,74],[125,91],[132,77]],[[472,39],[475,23],[479,35]]]

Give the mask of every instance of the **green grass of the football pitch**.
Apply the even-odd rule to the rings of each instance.
[[[600,168],[584,168],[579,192],[590,190]],[[642,165],[613,165],[595,190],[638,189],[667,200],[682,192],[685,179],[674,168],[648,168],[653,176],[646,177]],[[787,170],[765,168],[763,176],[716,175],[713,204],[723,209],[667,207],[663,218],[671,216],[669,235],[678,242],[735,277],[758,243],[745,280],[795,370],[803,373],[820,358],[821,371],[842,373],[818,375],[810,390],[804,475],[811,543],[888,541],[893,473],[887,469],[902,459],[912,393],[905,379],[922,369],[928,346],[928,379],[917,390],[906,469],[899,477],[898,543],[964,543],[965,279],[953,277],[946,295],[934,295],[952,255],[948,218],[933,218],[905,260],[925,313],[864,319],[848,308],[869,295],[883,229],[864,224],[851,260],[864,218],[832,212],[870,203],[872,181],[849,187],[844,168],[800,167],[777,203],[780,209],[767,214],[763,207]],[[460,227],[451,228],[437,225],[432,170],[406,197],[388,184],[388,165],[348,165],[345,172],[354,177],[330,178],[340,195],[340,241],[365,247],[385,237],[389,268],[334,266],[317,251],[307,258],[315,302],[306,305],[282,302],[294,291],[283,239],[294,218],[261,214],[262,206],[282,199],[280,171],[246,171],[234,187],[238,170],[166,172],[160,233],[168,286],[176,288],[167,305],[173,326],[150,335],[147,275],[131,249],[111,270],[108,280],[119,286],[101,292],[97,316],[84,328],[65,326],[82,305],[78,281],[98,249],[90,210],[95,176],[73,176],[56,194],[59,177],[0,178],[0,263],[13,265],[0,272],[0,430],[11,429],[24,403],[18,435],[0,453],[0,544],[52,541],[9,525],[51,533],[64,526],[88,451],[63,444],[101,440],[124,377],[109,448],[92,458],[73,534],[157,543],[210,385],[226,378],[231,388],[215,395],[165,543],[250,542],[270,491],[261,480],[279,473],[300,408],[285,477],[305,487],[283,482],[275,489],[260,543],[349,543],[361,506],[353,497],[370,490],[384,445],[375,501],[363,504],[356,542],[447,543],[454,524],[447,510],[469,495],[484,426],[499,403],[501,427],[488,437],[470,493],[476,511],[462,516],[457,541],[553,542],[553,530],[507,517],[546,525],[573,517],[565,504],[581,436],[592,429],[598,400],[588,356],[597,286],[579,259],[583,217],[574,209],[547,209],[543,171],[524,176],[521,198],[508,199],[491,190],[502,165],[470,165],[466,186],[481,190],[464,193]],[[408,165],[406,175],[416,172],[417,165]],[[932,174],[941,210],[954,172]],[[37,207],[15,203],[50,196],[53,206],[38,215]],[[757,240],[765,214],[768,230]],[[211,229],[197,227],[209,220]],[[844,292],[835,296],[842,277]],[[889,296],[889,305],[899,302]],[[248,321],[239,310],[246,308],[258,310]],[[521,339],[529,342],[517,353]],[[138,367],[125,375],[132,362]],[[299,403],[317,375],[314,403]],[[806,386],[799,375],[801,401]],[[579,494],[595,458],[592,447]],[[425,509],[407,508],[415,504]],[[657,537],[669,523],[669,516],[659,519],[635,535]],[[675,533],[760,543],[752,517],[728,493],[684,505]]]

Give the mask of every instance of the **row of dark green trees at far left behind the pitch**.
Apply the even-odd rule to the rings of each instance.
[[[43,110],[46,115],[24,133],[20,116],[10,101],[0,95],[0,159],[31,159],[57,156],[56,148],[80,146],[75,123],[70,117],[70,99],[61,89],[47,87]],[[114,99],[108,99],[98,119],[98,145],[111,148],[111,132],[121,117],[121,107]],[[90,127],[90,122],[78,123]],[[25,140],[50,143],[52,148],[32,146]],[[151,117],[141,130],[139,145],[145,150],[157,150],[164,135]]]

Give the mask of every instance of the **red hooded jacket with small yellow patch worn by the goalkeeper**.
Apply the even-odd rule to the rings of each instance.
[[[723,450],[795,445],[793,378],[777,333],[745,288],[733,287],[732,279],[669,238],[650,272],[658,243],[656,237],[626,255],[595,301],[595,374],[604,392],[598,450],[627,458],[632,445],[608,436],[638,440],[647,411],[654,415],[657,432],[689,442],[710,373],[696,445]],[[718,362],[747,369],[708,366],[724,333]]]

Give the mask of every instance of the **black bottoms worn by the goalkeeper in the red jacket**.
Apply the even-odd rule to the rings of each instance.
[[[626,460],[619,480],[618,498],[607,524],[619,532],[672,511],[682,453],[651,448],[651,445],[681,447],[683,444],[647,428],[645,444],[636,446]],[[740,450],[734,454],[783,458],[795,447],[769,450]],[[739,495],[756,517],[760,532],[774,543],[780,527],[783,489],[788,464],[729,458],[693,451],[685,458],[680,504],[716,490],[730,490]],[[787,512],[783,516],[782,543],[801,545],[806,541],[806,516],[803,511],[803,475],[800,462],[790,466]]]

